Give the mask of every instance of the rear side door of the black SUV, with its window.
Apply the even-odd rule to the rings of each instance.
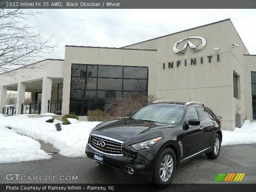
[[[213,128],[215,126],[214,121],[210,118],[209,112],[206,108],[196,107],[200,117],[200,129],[202,131],[203,144],[200,150],[204,150],[212,146]]]

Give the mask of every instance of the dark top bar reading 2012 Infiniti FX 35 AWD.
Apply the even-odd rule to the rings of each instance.
[[[0,8],[26,9],[161,9],[256,8],[256,0],[0,0]],[[180,13],[182,14],[182,12]],[[191,11],[193,14],[200,14]],[[172,14],[170,13],[170,16]],[[174,17],[174,16],[173,16]],[[175,17],[178,18],[178,15]]]

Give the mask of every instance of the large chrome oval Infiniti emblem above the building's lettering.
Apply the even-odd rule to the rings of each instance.
[[[189,39],[199,39],[199,40],[201,40],[202,43],[199,46],[195,46],[194,44],[192,44],[192,42],[189,41]],[[185,40],[188,40],[188,41],[186,42],[184,47],[182,49],[177,49],[178,44],[180,44],[181,42],[183,42]],[[177,55],[184,55],[188,46],[190,46],[193,53],[196,53],[196,52],[202,50],[206,46],[206,40],[205,40],[205,38],[202,38],[199,36],[186,37],[186,38],[176,42],[176,44],[174,44],[172,50]]]

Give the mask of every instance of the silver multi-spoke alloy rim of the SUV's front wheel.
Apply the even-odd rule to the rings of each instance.
[[[160,165],[160,178],[163,182],[166,182],[172,175],[173,170],[173,160],[172,156],[166,155],[162,159],[161,165]]]

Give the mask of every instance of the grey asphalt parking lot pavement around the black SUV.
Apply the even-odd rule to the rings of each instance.
[[[98,165],[89,158],[66,158],[59,154],[52,156],[50,160],[0,164],[0,183],[142,182],[126,172]],[[208,159],[204,154],[189,160],[177,169],[173,183],[215,183],[218,173],[245,173],[241,183],[256,183],[256,144],[222,146],[220,156],[215,160]],[[13,174],[13,179],[7,180],[7,174]],[[16,180],[14,174],[24,176],[25,180]],[[37,176],[37,180],[30,180],[28,176]],[[50,180],[46,180],[49,178],[46,176],[50,176]],[[60,176],[64,176],[61,179],[68,176],[68,180],[60,180]],[[77,176],[77,180],[69,180],[69,176]]]

